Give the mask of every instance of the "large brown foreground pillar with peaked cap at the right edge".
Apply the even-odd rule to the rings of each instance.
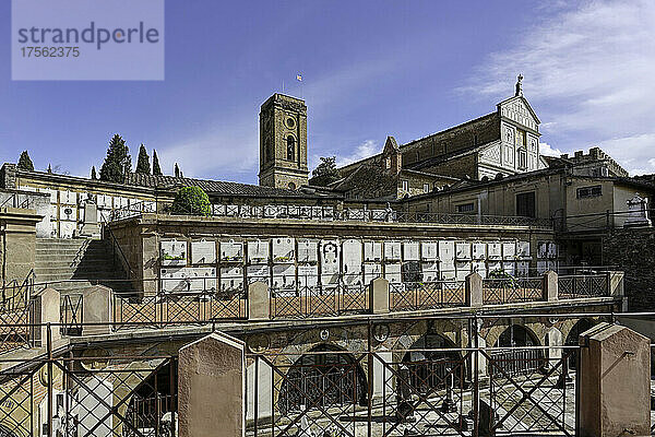
[[[577,435],[650,435],[650,340],[604,322],[583,332],[580,344]]]

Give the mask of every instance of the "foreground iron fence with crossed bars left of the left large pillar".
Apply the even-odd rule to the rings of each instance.
[[[58,356],[17,367],[1,364],[10,367],[0,371],[2,435],[177,434],[174,356]]]

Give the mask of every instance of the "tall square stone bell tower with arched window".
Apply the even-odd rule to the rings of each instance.
[[[275,93],[260,110],[260,185],[295,190],[308,175],[307,106]]]

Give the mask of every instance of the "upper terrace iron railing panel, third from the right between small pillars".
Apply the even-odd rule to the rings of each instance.
[[[389,284],[389,308],[392,311],[462,307],[465,305],[464,281]]]

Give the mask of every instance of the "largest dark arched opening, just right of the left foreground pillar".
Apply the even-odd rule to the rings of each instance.
[[[320,344],[294,363],[282,382],[278,409],[282,414],[303,409],[354,405],[366,402],[364,370],[349,353]]]

